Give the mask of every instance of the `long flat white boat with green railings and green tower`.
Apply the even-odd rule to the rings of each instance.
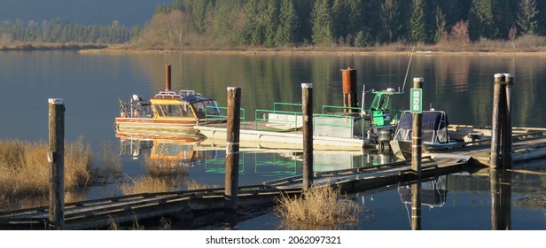
[[[374,94],[370,109],[324,105],[322,112],[313,113],[313,149],[323,151],[383,151],[391,140],[398,111],[391,110],[394,89],[369,92]],[[267,149],[303,148],[301,104],[274,103],[272,109],[256,110],[253,121],[241,118],[239,146]],[[298,108],[299,110],[294,110]],[[225,145],[225,124],[196,126],[214,145]]]

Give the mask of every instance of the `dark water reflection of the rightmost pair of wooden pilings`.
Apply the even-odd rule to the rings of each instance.
[[[489,170],[491,229],[511,229],[511,171]]]

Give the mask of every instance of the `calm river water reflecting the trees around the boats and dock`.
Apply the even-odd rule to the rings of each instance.
[[[301,83],[313,83],[314,108],[342,105],[341,72],[357,70],[358,92],[399,89],[409,64],[405,55],[254,55],[254,54],[84,54],[74,51],[0,52],[0,139],[47,141],[48,98],[64,98],[66,141],[83,136],[93,151],[114,143],[121,154],[124,182],[146,174],[143,153],[153,147],[191,146],[172,143],[121,143],[113,132],[119,99],[132,94],[150,96],[164,87],[164,65],[172,65],[173,89],[194,89],[226,105],[227,87],[242,89],[247,119],[253,110],[274,102],[300,102]],[[431,55],[415,53],[405,90],[413,77],[424,77],[425,106],[445,110],[449,122],[485,126],[491,123],[494,74],[515,74],[513,123],[546,127],[542,112],[546,96],[546,57],[537,55]],[[359,101],[362,101],[361,94]],[[409,96],[394,99],[394,108],[407,109]],[[369,104],[369,103],[368,103]],[[119,145],[118,145],[119,144]],[[116,150],[116,152],[118,152]],[[241,155],[239,182],[258,184],[300,174],[299,152],[249,151]],[[133,156],[134,155],[134,156]],[[194,152],[188,179],[222,184],[225,151]],[[364,167],[392,161],[388,154],[361,152],[317,153],[317,170]],[[534,166],[544,167],[544,161]],[[516,167],[523,165],[517,165]],[[539,169],[540,170],[540,169]],[[542,169],[543,170],[543,169]],[[511,175],[511,229],[546,229],[545,175]],[[424,185],[427,182],[424,183]],[[488,176],[452,174],[433,180],[437,197],[423,202],[423,229],[492,229],[492,194]],[[425,187],[425,186],[424,186]],[[410,229],[403,190],[396,186],[356,194],[366,211],[350,229]],[[434,190],[433,190],[434,191]],[[86,198],[121,194],[117,183],[90,187]],[[542,203],[531,199],[541,198]],[[4,208],[4,207],[3,207]],[[269,213],[239,223],[239,229],[276,229]]]

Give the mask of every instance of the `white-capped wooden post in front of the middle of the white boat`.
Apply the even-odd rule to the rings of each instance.
[[[301,84],[303,119],[303,190],[313,185],[313,84]]]

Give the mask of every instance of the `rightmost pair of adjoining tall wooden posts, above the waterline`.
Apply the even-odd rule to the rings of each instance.
[[[495,74],[493,88],[493,113],[491,124],[491,168],[511,168],[512,124],[511,124],[511,74]]]

